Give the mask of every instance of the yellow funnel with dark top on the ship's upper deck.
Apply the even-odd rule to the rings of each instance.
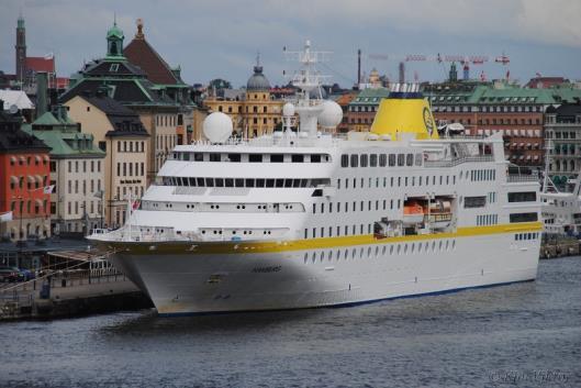
[[[392,140],[398,140],[401,133],[415,133],[415,138],[438,138],[429,104],[418,91],[390,92],[379,104],[371,133]]]

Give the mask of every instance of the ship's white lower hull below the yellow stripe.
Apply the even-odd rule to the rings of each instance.
[[[533,280],[540,239],[530,234],[518,242],[495,233],[278,253],[131,254],[114,264],[160,314],[299,309]]]

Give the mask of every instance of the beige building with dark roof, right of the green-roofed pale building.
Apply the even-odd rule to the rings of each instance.
[[[147,187],[145,166],[149,135],[139,115],[109,97],[107,90],[75,96],[67,101],[67,107],[72,120],[82,123],[82,132],[91,134],[107,155],[103,166],[105,224],[122,225],[127,200],[141,198]]]

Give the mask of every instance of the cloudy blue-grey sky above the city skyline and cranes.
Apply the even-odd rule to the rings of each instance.
[[[257,52],[272,85],[286,84],[293,69],[282,47],[299,49],[310,38],[331,51],[320,69],[344,87],[357,78],[357,48],[362,70],[376,67],[396,79],[406,54],[487,55],[471,76],[526,81],[536,73],[581,79],[581,1],[579,0],[2,0],[0,70],[14,73],[15,26],[22,11],[29,56],[54,53],[59,75],[104,56],[105,33],[116,14],[125,44],[142,18],[147,41],[171,65],[180,65],[188,84],[225,78],[245,85]],[[505,67],[494,64],[502,53]],[[370,59],[387,55],[388,60]],[[391,57],[391,58],[390,58]],[[442,80],[437,63],[407,63],[406,78]],[[461,73],[461,71],[460,71]]]

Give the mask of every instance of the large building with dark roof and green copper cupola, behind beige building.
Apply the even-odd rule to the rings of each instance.
[[[147,142],[146,185],[148,186],[166,160],[170,151],[178,144],[178,113],[180,103],[166,93],[167,88],[158,88],[147,78],[147,74],[132,64],[124,55],[123,31],[115,24],[107,33],[107,55],[104,58],[87,64],[70,81],[70,88],[60,97],[69,101],[89,92],[96,96],[103,92],[111,99],[131,109],[136,114],[149,136]],[[176,91],[179,87],[170,88]],[[93,128],[86,122],[88,115],[76,112],[75,120],[85,129]],[[96,135],[96,138],[98,136]]]

